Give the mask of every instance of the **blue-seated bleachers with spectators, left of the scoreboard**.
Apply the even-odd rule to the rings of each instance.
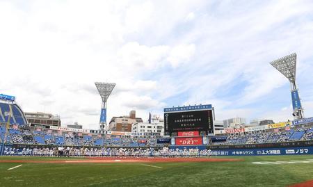
[[[0,125],[1,142],[6,133],[5,125]],[[161,147],[157,138],[131,138],[122,136],[105,136],[99,134],[83,134],[76,132],[60,132],[33,127],[11,125],[7,133],[6,143],[28,145],[62,145],[62,146],[90,146],[90,147]]]

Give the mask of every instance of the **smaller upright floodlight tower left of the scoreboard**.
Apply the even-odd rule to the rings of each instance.
[[[113,88],[115,87],[115,83],[99,83],[95,82],[95,86],[102,98],[102,106],[101,106],[101,115],[100,115],[100,129],[104,130],[106,127],[106,101],[108,100],[109,96]]]

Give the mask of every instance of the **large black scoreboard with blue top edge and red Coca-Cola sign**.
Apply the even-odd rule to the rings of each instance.
[[[166,136],[208,136],[214,134],[211,104],[164,108]]]

